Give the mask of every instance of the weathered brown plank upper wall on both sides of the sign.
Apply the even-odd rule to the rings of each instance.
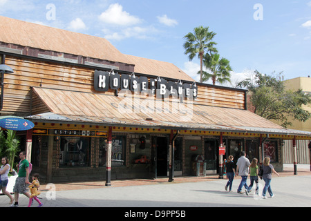
[[[94,69],[11,56],[6,56],[5,63],[15,72],[4,77],[2,113],[30,115],[31,106],[48,111],[44,106],[38,107],[38,99],[32,101],[30,87],[98,93],[93,89]],[[105,94],[114,95],[114,91]],[[243,91],[199,85],[194,104],[244,109],[244,96]]]

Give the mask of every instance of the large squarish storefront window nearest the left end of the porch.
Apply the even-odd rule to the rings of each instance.
[[[89,166],[90,137],[61,137],[60,166]]]

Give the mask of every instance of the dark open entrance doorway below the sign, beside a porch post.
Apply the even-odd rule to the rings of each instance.
[[[151,177],[167,176],[167,150],[169,147],[168,137],[152,137],[151,149]]]

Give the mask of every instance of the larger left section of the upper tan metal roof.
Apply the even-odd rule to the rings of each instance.
[[[0,41],[131,64],[124,54],[104,38],[2,16],[0,16]]]

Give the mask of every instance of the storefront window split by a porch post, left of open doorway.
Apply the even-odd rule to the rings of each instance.
[[[107,139],[100,138],[99,165],[106,166]],[[126,137],[113,137],[111,166],[123,166],[125,162]]]

